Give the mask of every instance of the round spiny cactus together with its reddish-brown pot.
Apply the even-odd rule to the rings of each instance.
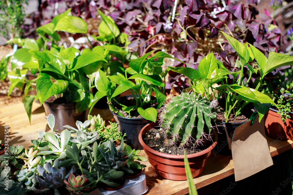
[[[201,95],[191,93],[182,93],[179,96],[172,97],[168,104],[162,109],[160,121],[149,123],[144,126],[139,133],[140,144],[148,156],[148,160],[153,170],[161,177],[170,180],[186,180],[184,169],[184,155],[169,154],[170,151],[156,151],[147,146],[145,137],[149,130],[160,125],[160,133],[156,137],[163,137],[165,146],[173,145],[175,148],[188,149],[188,161],[192,176],[196,177],[207,163],[212,149],[217,144],[217,134],[212,130],[215,123],[215,102],[209,102]],[[201,149],[202,151],[198,151]]]

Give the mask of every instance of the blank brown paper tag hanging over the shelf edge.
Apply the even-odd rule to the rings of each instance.
[[[273,165],[263,119],[259,123],[257,117],[253,125],[249,120],[235,129],[232,158],[235,181],[243,180]]]

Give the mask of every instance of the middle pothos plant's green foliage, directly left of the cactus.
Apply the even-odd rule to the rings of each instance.
[[[156,108],[145,108],[145,106],[148,103],[158,103],[158,108],[163,105],[166,100],[163,80],[165,80],[168,70],[163,70],[161,65],[163,65],[164,58],[178,59],[162,51],[158,51],[153,56],[148,57],[151,53],[152,51],[130,61],[129,67],[125,70],[125,75],[107,77],[103,71],[98,70],[95,86],[101,94],[100,97],[107,96],[112,112],[124,117],[115,108],[115,105],[119,104],[129,116],[135,117],[140,114],[147,120],[156,121]],[[129,77],[128,74],[131,76]],[[134,80],[134,82],[131,80]],[[119,94],[127,90],[132,93],[136,102],[135,105],[125,106],[115,99]],[[154,100],[151,99],[152,92],[156,95]]]

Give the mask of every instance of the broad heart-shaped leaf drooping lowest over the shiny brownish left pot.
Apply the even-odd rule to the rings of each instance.
[[[63,93],[68,87],[68,81],[59,80],[54,73],[40,72],[36,85],[37,94],[42,105],[50,96]]]

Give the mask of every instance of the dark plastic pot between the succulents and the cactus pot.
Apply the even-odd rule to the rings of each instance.
[[[139,143],[138,135],[140,130],[142,130],[142,127],[151,121],[144,118],[125,118],[112,111],[111,113],[113,114],[115,122],[118,123],[118,130],[122,132],[122,134],[126,133],[124,140],[127,145],[130,145],[135,149],[143,149],[142,145]]]

